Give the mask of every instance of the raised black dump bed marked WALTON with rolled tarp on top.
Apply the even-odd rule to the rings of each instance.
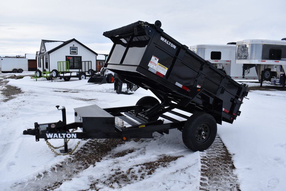
[[[104,32],[114,42],[105,67],[122,81],[150,89],[162,102],[209,113],[219,124],[224,111],[222,120],[232,123],[240,114],[247,85],[232,80],[160,26],[160,21],[138,21]]]

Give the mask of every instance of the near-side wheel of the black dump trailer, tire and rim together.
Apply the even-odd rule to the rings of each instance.
[[[210,147],[217,135],[217,122],[207,113],[195,113],[184,124],[182,139],[192,151],[203,151]]]

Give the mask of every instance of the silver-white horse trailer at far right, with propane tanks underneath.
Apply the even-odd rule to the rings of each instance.
[[[243,40],[236,43],[236,49],[236,63],[243,64],[244,68],[255,68],[257,74],[262,74],[259,80],[285,77],[285,40]]]

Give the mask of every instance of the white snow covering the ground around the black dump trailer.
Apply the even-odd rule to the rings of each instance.
[[[4,78],[7,74],[0,74]],[[33,179],[67,159],[57,156],[41,139],[22,135],[23,130],[33,128],[34,122],[46,123],[61,120],[56,105],[65,106],[67,123],[74,122],[74,108],[96,104],[102,108],[135,105],[150,91],[139,88],[132,95],[116,94],[113,84],[90,84],[86,80],[71,79],[68,82],[49,82],[23,79],[7,79],[9,85],[21,88],[23,94],[7,102],[0,102],[0,190]],[[247,82],[244,82],[247,83]],[[249,83],[256,86],[255,83]],[[286,182],[286,91],[251,91],[250,100],[244,99],[241,116],[233,124],[218,125],[218,134],[232,154],[241,190],[285,190]],[[0,94],[0,101],[4,97]],[[177,130],[169,135],[156,134],[144,142],[130,141],[119,145],[112,152],[133,149],[123,157],[103,158],[93,166],[67,180],[57,190],[88,190],[97,179],[107,179],[112,169],[139,168],[139,164],[156,161],[162,156],[180,156],[166,168],[158,168],[144,180],[133,181],[120,188],[99,184],[101,190],[199,190],[200,152],[187,149]],[[69,147],[77,144],[69,141]],[[55,146],[63,144],[53,139]],[[86,141],[81,141],[76,152]],[[59,149],[56,149],[59,152]],[[135,169],[138,170],[138,169]],[[138,171],[136,171],[138,172]],[[45,178],[45,177],[43,177]]]

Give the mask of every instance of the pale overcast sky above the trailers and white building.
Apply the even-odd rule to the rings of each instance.
[[[9,0],[0,6],[0,56],[35,54],[42,39],[72,38],[108,54],[112,43],[103,32],[138,20],[160,20],[164,32],[188,47],[286,38],[284,0]]]

